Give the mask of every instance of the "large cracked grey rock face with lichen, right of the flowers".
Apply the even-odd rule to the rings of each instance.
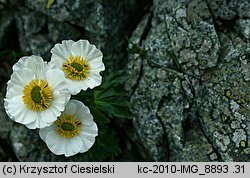
[[[154,6],[131,37],[146,55],[129,55],[126,85],[148,156],[250,161],[249,1]]]

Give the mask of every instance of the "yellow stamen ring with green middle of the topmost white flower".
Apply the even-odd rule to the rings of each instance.
[[[71,56],[63,63],[62,70],[71,80],[83,80],[89,76],[90,66],[86,59]]]

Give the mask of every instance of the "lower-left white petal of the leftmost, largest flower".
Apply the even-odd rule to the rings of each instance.
[[[26,108],[22,96],[8,98],[6,102],[6,111],[10,118],[21,124],[29,124],[36,119],[36,113]]]

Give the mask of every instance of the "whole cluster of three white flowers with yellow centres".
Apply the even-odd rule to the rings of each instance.
[[[102,81],[103,54],[87,40],[64,40],[51,49],[51,61],[25,56],[13,66],[4,106],[8,116],[39,135],[56,155],[88,151],[98,128],[82,102],[70,100]]]

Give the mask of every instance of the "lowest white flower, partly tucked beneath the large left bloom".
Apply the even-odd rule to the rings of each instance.
[[[97,133],[88,107],[77,100],[70,100],[54,124],[39,131],[41,139],[54,154],[66,157],[88,151]]]

